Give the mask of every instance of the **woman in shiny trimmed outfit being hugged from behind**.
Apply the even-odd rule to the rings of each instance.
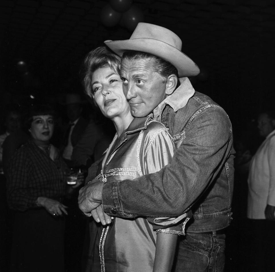
[[[160,170],[173,156],[174,144],[164,125],[150,117],[132,117],[122,90],[120,61],[104,47],[85,59],[85,90],[117,131],[104,159],[90,167],[88,181],[96,172],[102,182],[134,179]],[[115,218],[96,230],[93,223],[86,271],[170,271],[175,234],[183,234],[178,223],[184,217]],[[167,228],[171,225],[175,226]]]

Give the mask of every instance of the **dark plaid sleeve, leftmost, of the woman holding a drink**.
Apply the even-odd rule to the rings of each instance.
[[[8,169],[7,201],[12,210],[25,211],[36,207],[36,196],[29,191],[31,162],[23,149],[16,151]]]

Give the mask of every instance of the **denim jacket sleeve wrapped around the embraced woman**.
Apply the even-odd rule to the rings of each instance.
[[[135,180],[103,185],[104,211],[116,216],[179,216],[215,180],[230,154],[231,123],[224,111],[209,107],[188,124],[171,164]],[[148,205],[150,203],[150,205]]]

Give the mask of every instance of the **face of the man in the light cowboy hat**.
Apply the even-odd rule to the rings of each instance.
[[[134,117],[147,116],[166,98],[166,83],[153,65],[148,59],[121,62],[123,92]]]

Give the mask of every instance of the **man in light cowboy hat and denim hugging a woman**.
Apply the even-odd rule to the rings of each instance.
[[[132,115],[151,114],[164,123],[178,150],[170,165],[132,181],[103,184],[88,176],[80,209],[105,224],[110,218],[100,212],[101,203],[109,216],[124,218],[177,216],[191,208],[194,216],[179,243],[176,271],[222,271],[222,229],[231,220],[233,190],[227,114],[193,89],[186,76],[199,74],[199,68],[181,52],[181,40],[172,31],[139,23],[129,40],[105,44],[123,54],[121,78]]]

